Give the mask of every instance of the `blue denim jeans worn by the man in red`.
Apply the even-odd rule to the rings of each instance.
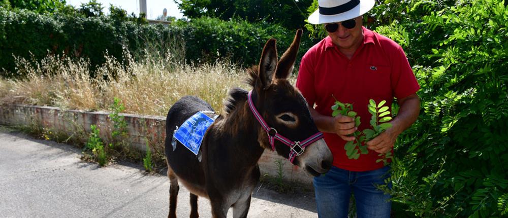
[[[351,193],[355,194],[358,218],[390,217],[390,195],[374,184],[385,184],[390,166],[354,172],[332,167],[325,175],[314,177],[317,214],[320,218],[347,217]],[[388,184],[392,188],[392,183]]]

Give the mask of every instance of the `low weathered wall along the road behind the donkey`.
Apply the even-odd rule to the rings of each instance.
[[[155,149],[164,153],[166,137],[166,118],[161,116],[140,116],[120,114],[128,124],[128,140],[135,149],[146,150],[146,140]],[[1,105],[0,124],[9,126],[33,126],[65,132],[68,135],[84,133],[88,135],[90,125],[97,125],[101,137],[111,139],[113,123],[106,112],[85,112],[80,110],[61,110],[50,106]],[[283,164],[285,179],[311,186],[312,179],[303,170],[292,165],[275,152],[266,150],[259,160],[261,175],[276,176],[277,160]]]

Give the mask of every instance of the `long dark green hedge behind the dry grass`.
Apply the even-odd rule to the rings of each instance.
[[[0,9],[0,69],[2,75],[14,76],[13,55],[40,60],[48,52],[87,58],[92,68],[96,68],[104,63],[106,52],[122,60],[124,49],[144,54],[145,49],[156,47],[164,53],[167,48],[174,48],[171,43],[185,45],[185,52],[178,52],[185,54],[187,62],[228,58],[249,66],[258,63],[266,40],[277,39],[282,53],[291,44],[294,33],[278,25],[215,18],[163,26],[114,16],[41,15],[27,10]],[[312,45],[308,38],[302,41],[300,57]]]

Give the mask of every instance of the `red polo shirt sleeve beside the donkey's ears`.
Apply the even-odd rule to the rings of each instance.
[[[314,89],[314,63],[310,52],[305,53],[300,62],[300,70],[296,79],[296,87],[300,90],[309,106],[314,105],[315,89]]]

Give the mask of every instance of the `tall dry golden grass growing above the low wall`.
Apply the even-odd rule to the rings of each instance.
[[[3,103],[53,105],[66,109],[108,110],[118,97],[125,113],[165,116],[171,105],[185,95],[196,95],[209,102],[216,111],[232,87],[243,84],[246,72],[227,62],[192,66],[174,61],[146,57],[134,61],[125,54],[127,63],[107,57],[90,79],[88,62],[65,56],[48,56],[37,61],[18,58],[18,72],[25,79],[0,79]],[[103,78],[116,78],[106,81]]]

